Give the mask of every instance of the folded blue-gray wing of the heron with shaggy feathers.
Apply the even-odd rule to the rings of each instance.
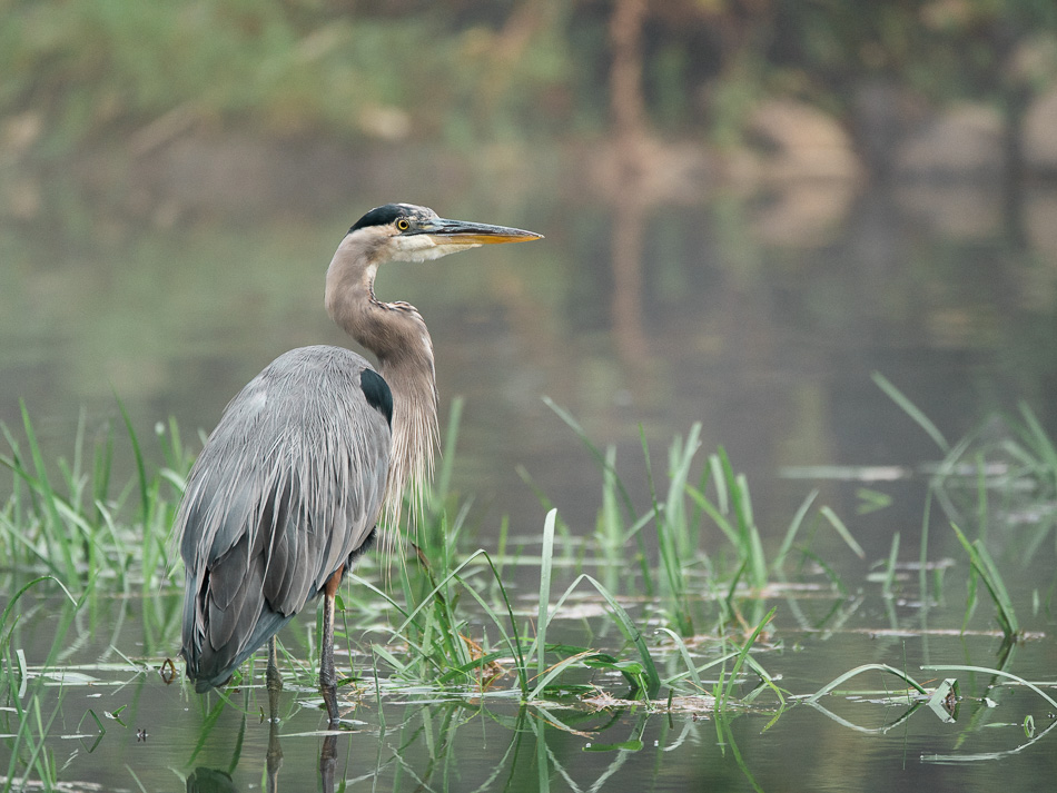
[[[391,398],[355,353],[304,347],[225,409],[176,518],[181,654],[199,691],[230,677],[372,536],[392,446],[379,387]]]

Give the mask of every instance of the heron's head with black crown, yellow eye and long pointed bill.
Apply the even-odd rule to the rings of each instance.
[[[526,242],[543,235],[506,226],[448,220],[428,207],[386,204],[357,220],[346,237],[363,237],[374,260],[426,261],[481,245]]]

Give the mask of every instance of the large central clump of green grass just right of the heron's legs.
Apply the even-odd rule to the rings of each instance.
[[[605,579],[580,572],[556,598],[552,596],[557,547],[567,545],[570,528],[562,524],[556,511],[550,508],[539,559],[530,558],[528,554],[524,556],[540,569],[534,621],[530,618],[512,599],[501,575],[501,564],[492,554],[483,548],[460,552],[456,541],[467,513],[446,493],[450,479],[442,469],[437,477],[441,484],[432,499],[435,508],[431,523],[418,528],[413,554],[398,572],[403,601],[397,603],[374,584],[356,579],[369,589],[375,601],[384,601],[396,615],[392,627],[379,628],[382,641],[373,642],[369,652],[364,654],[373,666],[358,678],[398,678],[408,684],[462,686],[478,693],[513,691],[527,703],[589,691],[597,673],[619,674],[629,694],[644,703],[656,701],[664,690],[670,697],[690,696],[703,694],[711,686],[719,706],[725,708],[737,701],[735,683],[743,682],[744,672],[751,671],[762,681],[752,696],[772,691],[781,702],[782,691],[752,656],[774,609],[758,611],[747,621],[737,602],[745,596],[755,598],[753,593],[768,585],[772,572],[782,569],[816,494],[797,512],[784,535],[780,556],[768,562],[754,523],[747,478],[734,473],[722,449],[709,457],[695,484],[690,484],[700,450],[700,426],[672,443],[664,488],[649,469],[650,453],[643,442],[651,508],[639,515],[616,472],[615,452],[600,450],[572,416],[550,404],[602,468],[602,506],[594,537]],[[456,425],[457,416],[450,423],[450,426]],[[453,456],[454,435],[450,434],[445,458]],[[705,495],[710,483],[715,492],[711,497]],[[832,513],[827,518],[820,513],[818,519],[836,523]],[[724,565],[723,569],[732,571],[725,582],[717,582],[717,567],[701,546],[705,521],[720,526],[737,559],[737,565]],[[652,527],[651,534],[648,527]],[[661,614],[666,624],[659,630],[670,638],[669,646],[676,654],[672,656],[675,668],[671,668],[670,663],[663,676],[654,656],[671,651],[663,650],[656,638],[651,641],[640,627],[641,617],[625,607],[629,597],[639,595],[635,584],[629,583],[628,576],[609,575],[613,569],[626,568],[629,551],[646,567],[640,578],[642,588],[655,593],[665,604]],[[649,564],[649,558],[656,559],[655,564]],[[584,591],[590,601],[603,604],[599,628],[604,632],[607,626],[615,627],[623,638],[624,653],[601,652],[562,638],[552,640],[555,617],[563,614],[573,598],[583,597]],[[462,605],[467,602],[468,611]],[[692,657],[683,637],[694,635],[695,617],[714,608],[710,604],[717,602],[721,607],[713,624],[720,634],[731,626],[745,638],[741,643],[731,642],[732,652],[720,652],[718,660],[702,663]],[[649,633],[660,637],[656,626]],[[719,667],[719,677],[707,683],[702,674],[714,667]]]

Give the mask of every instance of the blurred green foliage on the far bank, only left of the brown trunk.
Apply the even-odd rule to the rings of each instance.
[[[58,151],[172,111],[281,137],[457,133],[482,111],[527,112],[526,89],[545,91],[567,71],[545,34],[513,68],[494,51],[495,31],[453,28],[442,9],[389,18],[278,0],[7,6],[0,116],[42,113]]]

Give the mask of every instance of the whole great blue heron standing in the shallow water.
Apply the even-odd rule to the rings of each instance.
[[[327,269],[327,313],[378,370],[342,347],[279,356],[228,404],[187,479],[180,654],[196,691],[224,685],[265,642],[277,691],[275,634],[323,594],[319,686],[337,721],[335,593],[379,515],[395,526],[407,486],[432,473],[437,436],[429,333],[414,306],[375,298],[378,266],[539,238],[408,204],[372,209],[348,230]]]

